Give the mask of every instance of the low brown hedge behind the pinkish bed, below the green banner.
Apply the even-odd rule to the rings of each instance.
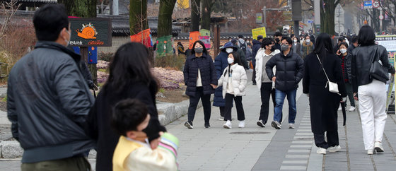
[[[154,66],[163,68],[169,67],[171,69],[182,71],[185,64],[185,59],[186,57],[184,54],[172,54],[165,57],[156,57],[156,60],[154,61]]]

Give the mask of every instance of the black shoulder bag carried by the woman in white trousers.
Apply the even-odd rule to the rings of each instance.
[[[377,46],[378,49],[378,46]],[[376,79],[378,81],[382,81],[386,83],[389,80],[388,69],[380,64],[379,58],[380,56],[377,55],[377,49],[375,49],[375,54],[373,57],[373,62],[370,66],[370,78]]]

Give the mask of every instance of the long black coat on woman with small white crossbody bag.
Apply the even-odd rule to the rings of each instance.
[[[330,81],[338,84],[339,94],[330,93],[326,87],[327,78],[315,53],[305,58],[303,93],[309,93],[310,122],[314,134],[323,134],[327,130],[337,130],[337,108],[341,97],[346,97],[341,59],[327,53],[323,65]]]

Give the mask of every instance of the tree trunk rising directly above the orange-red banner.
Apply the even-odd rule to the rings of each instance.
[[[129,0],[129,30],[131,35],[148,29],[147,0]]]

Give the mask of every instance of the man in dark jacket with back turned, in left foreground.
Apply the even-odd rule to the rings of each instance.
[[[91,170],[95,143],[83,126],[93,97],[81,74],[81,56],[66,48],[70,25],[61,4],[35,12],[35,49],[8,76],[7,110],[13,138],[23,148],[21,170]]]

